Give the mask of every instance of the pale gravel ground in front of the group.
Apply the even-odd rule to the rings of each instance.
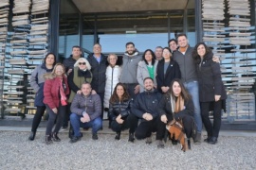
[[[157,149],[145,141],[128,143],[127,133],[115,141],[115,134],[104,127],[99,140],[90,131],[69,144],[67,130],[62,142],[46,145],[45,127],[39,128],[35,141],[27,140],[30,127],[0,127],[0,169],[256,169],[256,133],[221,131],[218,144],[192,144],[182,152],[170,142]],[[205,133],[204,133],[205,134]],[[154,136],[155,137],[155,136]]]

